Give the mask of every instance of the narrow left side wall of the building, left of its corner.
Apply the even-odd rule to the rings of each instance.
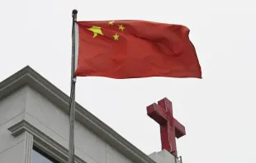
[[[22,88],[4,100],[0,101],[0,162],[27,162],[30,153],[25,150],[31,135],[22,133],[12,137],[7,129],[24,119],[26,108],[26,88]],[[16,155],[14,156],[13,153]]]

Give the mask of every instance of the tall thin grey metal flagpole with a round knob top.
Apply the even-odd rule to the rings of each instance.
[[[73,10],[72,17],[72,61],[71,61],[71,89],[69,99],[69,163],[74,162],[74,119],[75,119],[75,22],[77,21],[77,10]]]

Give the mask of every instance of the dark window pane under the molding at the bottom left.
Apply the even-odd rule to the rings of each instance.
[[[31,163],[59,163],[55,159],[47,156],[44,152],[40,151],[38,148],[33,147]]]

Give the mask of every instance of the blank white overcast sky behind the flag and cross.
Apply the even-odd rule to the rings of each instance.
[[[76,100],[147,155],[161,150],[146,106],[167,97],[186,127],[183,162],[256,162],[256,10],[253,0],[0,0],[0,81],[26,65],[69,95],[71,13],[78,21],[187,26],[202,79],[78,77]]]

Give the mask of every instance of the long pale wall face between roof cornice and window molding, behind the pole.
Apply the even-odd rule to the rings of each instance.
[[[26,86],[25,119],[60,145],[69,147],[69,115]],[[92,163],[131,163],[101,138],[75,122],[75,153]]]

